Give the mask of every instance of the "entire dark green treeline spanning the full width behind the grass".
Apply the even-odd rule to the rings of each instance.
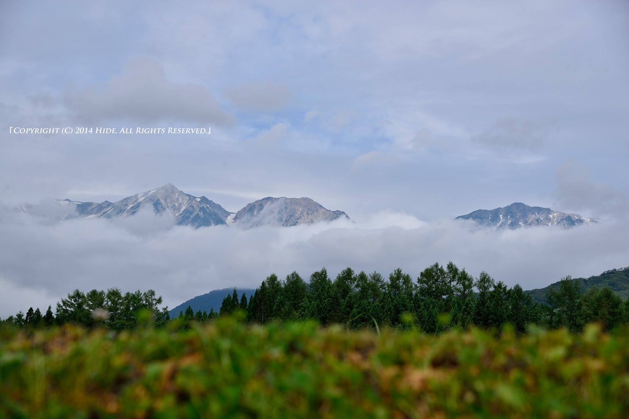
[[[173,320],[167,307],[159,307],[162,297],[153,290],[124,295],[118,288],[75,290],[57,303],[55,313],[50,306],[44,315],[30,308],[26,315],[19,312],[4,323],[26,329],[74,323],[123,330],[135,328],[138,322],[162,327],[174,321],[178,329],[187,329],[192,322],[239,312],[245,321],[259,324],[314,319],[321,325],[343,324],[352,329],[416,327],[428,333],[453,327],[467,330],[472,325],[500,329],[511,324],[522,334],[529,324],[579,332],[589,322],[599,322],[605,331],[629,322],[629,300],[623,303],[608,286],[584,292],[579,281],[566,276],[558,290],[547,291],[546,299],[548,304],[533,302],[520,285],[509,288],[486,272],[474,278],[450,262],[445,267],[429,266],[416,280],[401,269],[385,279],[377,272],[355,273],[347,268],[331,280],[323,268],[310,276],[309,283],[296,272],[283,281],[272,274],[248,300],[245,293],[238,297],[234,289],[223,299],[219,312],[195,313],[188,306]]]

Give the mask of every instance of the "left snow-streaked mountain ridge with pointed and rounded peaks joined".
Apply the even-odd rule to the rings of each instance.
[[[155,214],[172,215],[177,226],[199,227],[234,225],[298,226],[320,221],[350,218],[343,211],[331,211],[310,198],[267,197],[250,204],[236,213],[230,212],[206,197],[195,197],[182,192],[171,183],[131,195],[116,202],[79,202],[70,199],[53,199],[58,205],[46,212],[36,205],[22,205],[18,210],[27,214],[56,217],[58,220],[73,218],[130,217],[148,208]]]

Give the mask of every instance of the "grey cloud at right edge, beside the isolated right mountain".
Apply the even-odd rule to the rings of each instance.
[[[582,215],[626,219],[629,214],[629,195],[594,182],[587,167],[577,161],[565,161],[559,166],[553,195],[559,207],[587,212]]]

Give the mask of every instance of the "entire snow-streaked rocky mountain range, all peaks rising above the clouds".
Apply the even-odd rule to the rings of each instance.
[[[51,208],[50,203],[22,205],[18,207],[18,210],[32,215],[66,220],[81,217],[106,219],[130,217],[140,210],[149,209],[155,214],[172,215],[177,226],[191,226],[195,229],[220,225],[237,225],[244,228],[292,227],[337,219],[350,220],[345,212],[328,210],[307,197],[266,197],[245,205],[237,212],[230,212],[206,197],[195,197],[182,192],[171,183],[116,202],[97,203],[53,199],[52,206]],[[479,209],[469,214],[459,215],[456,219],[472,220],[479,226],[494,231],[535,226],[556,226],[568,229],[600,221],[550,208],[529,207],[521,202],[514,202],[493,210]]]

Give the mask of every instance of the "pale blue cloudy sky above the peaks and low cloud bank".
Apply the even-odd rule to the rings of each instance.
[[[170,182],[231,211],[308,196],[358,222],[629,208],[625,1],[4,2],[0,40],[4,205]]]

